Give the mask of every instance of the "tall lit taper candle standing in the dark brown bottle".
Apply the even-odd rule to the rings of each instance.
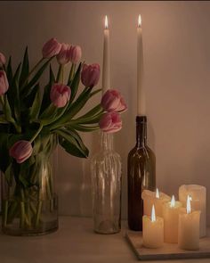
[[[137,27],[137,114],[146,114],[145,91],[143,89],[143,45],[141,15],[138,18]]]

